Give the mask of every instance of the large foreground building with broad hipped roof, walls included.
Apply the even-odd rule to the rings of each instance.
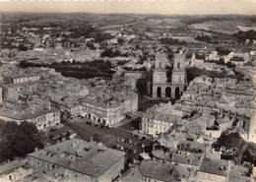
[[[82,140],[69,140],[28,154],[37,170],[50,170],[67,176],[70,182],[111,182],[124,169],[125,152]]]

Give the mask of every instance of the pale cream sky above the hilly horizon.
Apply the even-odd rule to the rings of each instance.
[[[256,0],[0,0],[0,12],[256,15]]]

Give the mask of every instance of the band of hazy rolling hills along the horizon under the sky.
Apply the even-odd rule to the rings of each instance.
[[[147,27],[169,29],[187,27],[194,30],[212,30],[232,33],[237,26],[256,26],[256,16],[162,16],[136,14],[90,14],[90,13],[6,13],[2,23],[11,25],[95,25],[101,29],[120,28],[128,24],[136,29]]]

